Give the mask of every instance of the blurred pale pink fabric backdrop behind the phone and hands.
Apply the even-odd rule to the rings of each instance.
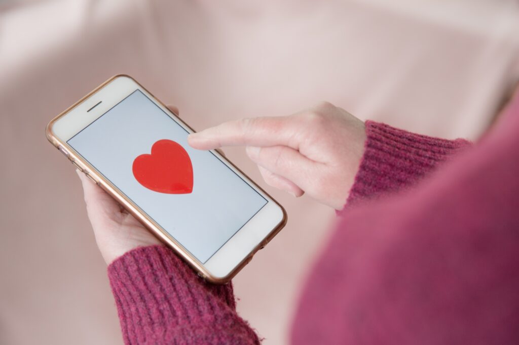
[[[516,0],[0,0],[0,343],[122,343],[73,166],[45,138],[119,73],[196,130],[328,100],[361,119],[476,139],[519,80]],[[288,225],[234,280],[264,344],[288,341],[334,212],[269,188]]]

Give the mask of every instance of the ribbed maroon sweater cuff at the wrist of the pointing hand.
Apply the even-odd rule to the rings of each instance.
[[[347,205],[411,186],[460,149],[465,139],[413,134],[366,121],[365,151]]]

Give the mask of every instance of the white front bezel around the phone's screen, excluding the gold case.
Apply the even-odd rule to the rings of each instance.
[[[79,152],[75,151],[67,144],[67,141],[135,90],[140,90],[188,133],[193,133],[188,126],[179,121],[167,107],[158,102],[157,99],[141,87],[139,83],[127,76],[117,76],[54,122],[52,125],[54,136],[60,139],[62,145],[65,146],[67,151],[75,152],[77,156],[80,156]],[[206,263],[201,263],[195,258],[195,260],[197,260],[197,262],[207,270],[209,276],[216,279],[223,279],[245,260],[251,257],[262,243],[265,243],[265,239],[269,238],[269,236],[272,235],[272,232],[279,228],[281,223],[285,221],[285,213],[269,195],[252,183],[247,176],[242,174],[241,171],[236,169],[226,159],[223,159],[218,152],[214,150],[211,150],[211,152],[218,160],[227,165],[229,169],[233,170],[235,174],[245,181],[245,183],[248,183],[251,188],[267,200],[267,204],[255,215],[251,215],[251,219],[245,223],[235,233],[235,235],[225,243],[224,246],[218,249]],[[86,163],[83,163],[83,165],[87,165],[86,168],[93,170],[94,174],[104,177],[94,166]],[[107,181],[107,179],[102,182],[103,184],[108,182],[106,188],[111,188],[118,193],[124,193],[110,181]],[[135,203],[133,203],[133,200],[131,200],[131,203],[136,210],[145,213],[144,210],[140,209],[135,205]],[[155,224],[158,225],[157,223]],[[158,227],[169,235],[169,233],[160,227],[160,225],[158,225]],[[171,235],[169,235],[169,237],[171,237],[175,243],[178,243],[184,251],[188,252],[182,246],[182,243],[177,242]]]

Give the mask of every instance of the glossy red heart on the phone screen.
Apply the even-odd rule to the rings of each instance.
[[[193,191],[193,165],[186,150],[177,142],[161,139],[152,154],[141,154],[133,161],[133,176],[147,189],[167,194]]]

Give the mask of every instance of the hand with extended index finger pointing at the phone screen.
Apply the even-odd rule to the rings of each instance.
[[[246,146],[265,181],[342,209],[364,153],[364,122],[323,102],[286,117],[230,121],[189,135],[193,148]]]

